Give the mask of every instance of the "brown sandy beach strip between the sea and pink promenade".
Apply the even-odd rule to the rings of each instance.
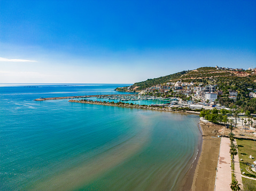
[[[213,191],[220,152],[221,138],[218,138],[218,131],[223,127],[213,126],[211,124],[203,124],[202,122],[200,122],[200,127],[203,134],[203,145],[196,170],[193,175],[193,182],[190,190]]]

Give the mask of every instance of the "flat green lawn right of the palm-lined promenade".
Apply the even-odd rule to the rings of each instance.
[[[255,159],[250,159],[249,156],[252,155],[256,157],[256,143],[254,140],[244,140],[244,139],[237,139],[238,145],[238,155],[239,159],[243,159],[240,161],[240,168],[243,169],[242,172],[245,172],[245,176],[256,178],[256,173],[250,173],[246,170],[246,168],[250,169],[253,161]],[[256,182],[256,180],[255,180]]]

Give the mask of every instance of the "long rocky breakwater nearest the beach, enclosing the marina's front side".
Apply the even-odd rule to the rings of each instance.
[[[76,103],[87,103],[87,104],[96,104],[96,105],[109,105],[109,106],[119,106],[119,107],[132,107],[138,109],[148,109],[148,110],[159,110],[159,111],[172,111],[172,112],[181,112],[181,113],[192,113],[192,114],[200,114],[200,112],[196,111],[185,111],[185,110],[175,110],[170,107],[155,107],[155,106],[145,106],[145,105],[131,105],[128,103],[110,103],[110,102],[99,102],[99,101],[87,101],[87,100],[69,100],[68,102],[76,102]]]

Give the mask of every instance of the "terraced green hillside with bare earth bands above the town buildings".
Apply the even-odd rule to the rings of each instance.
[[[182,71],[168,76],[148,79],[142,82],[136,82],[129,90],[142,90],[154,85],[163,85],[167,82],[193,82],[196,85],[215,84],[220,89],[234,89],[245,90],[247,88],[256,89],[256,74],[251,71],[230,71],[230,70],[217,70],[214,67],[202,67],[196,70]],[[117,90],[128,90],[125,88],[118,88]]]

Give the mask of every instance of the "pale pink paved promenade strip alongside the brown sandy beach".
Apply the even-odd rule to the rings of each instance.
[[[218,169],[215,180],[216,191],[231,191],[231,156],[229,153],[229,138],[222,137],[220,144],[220,155],[218,161]]]

